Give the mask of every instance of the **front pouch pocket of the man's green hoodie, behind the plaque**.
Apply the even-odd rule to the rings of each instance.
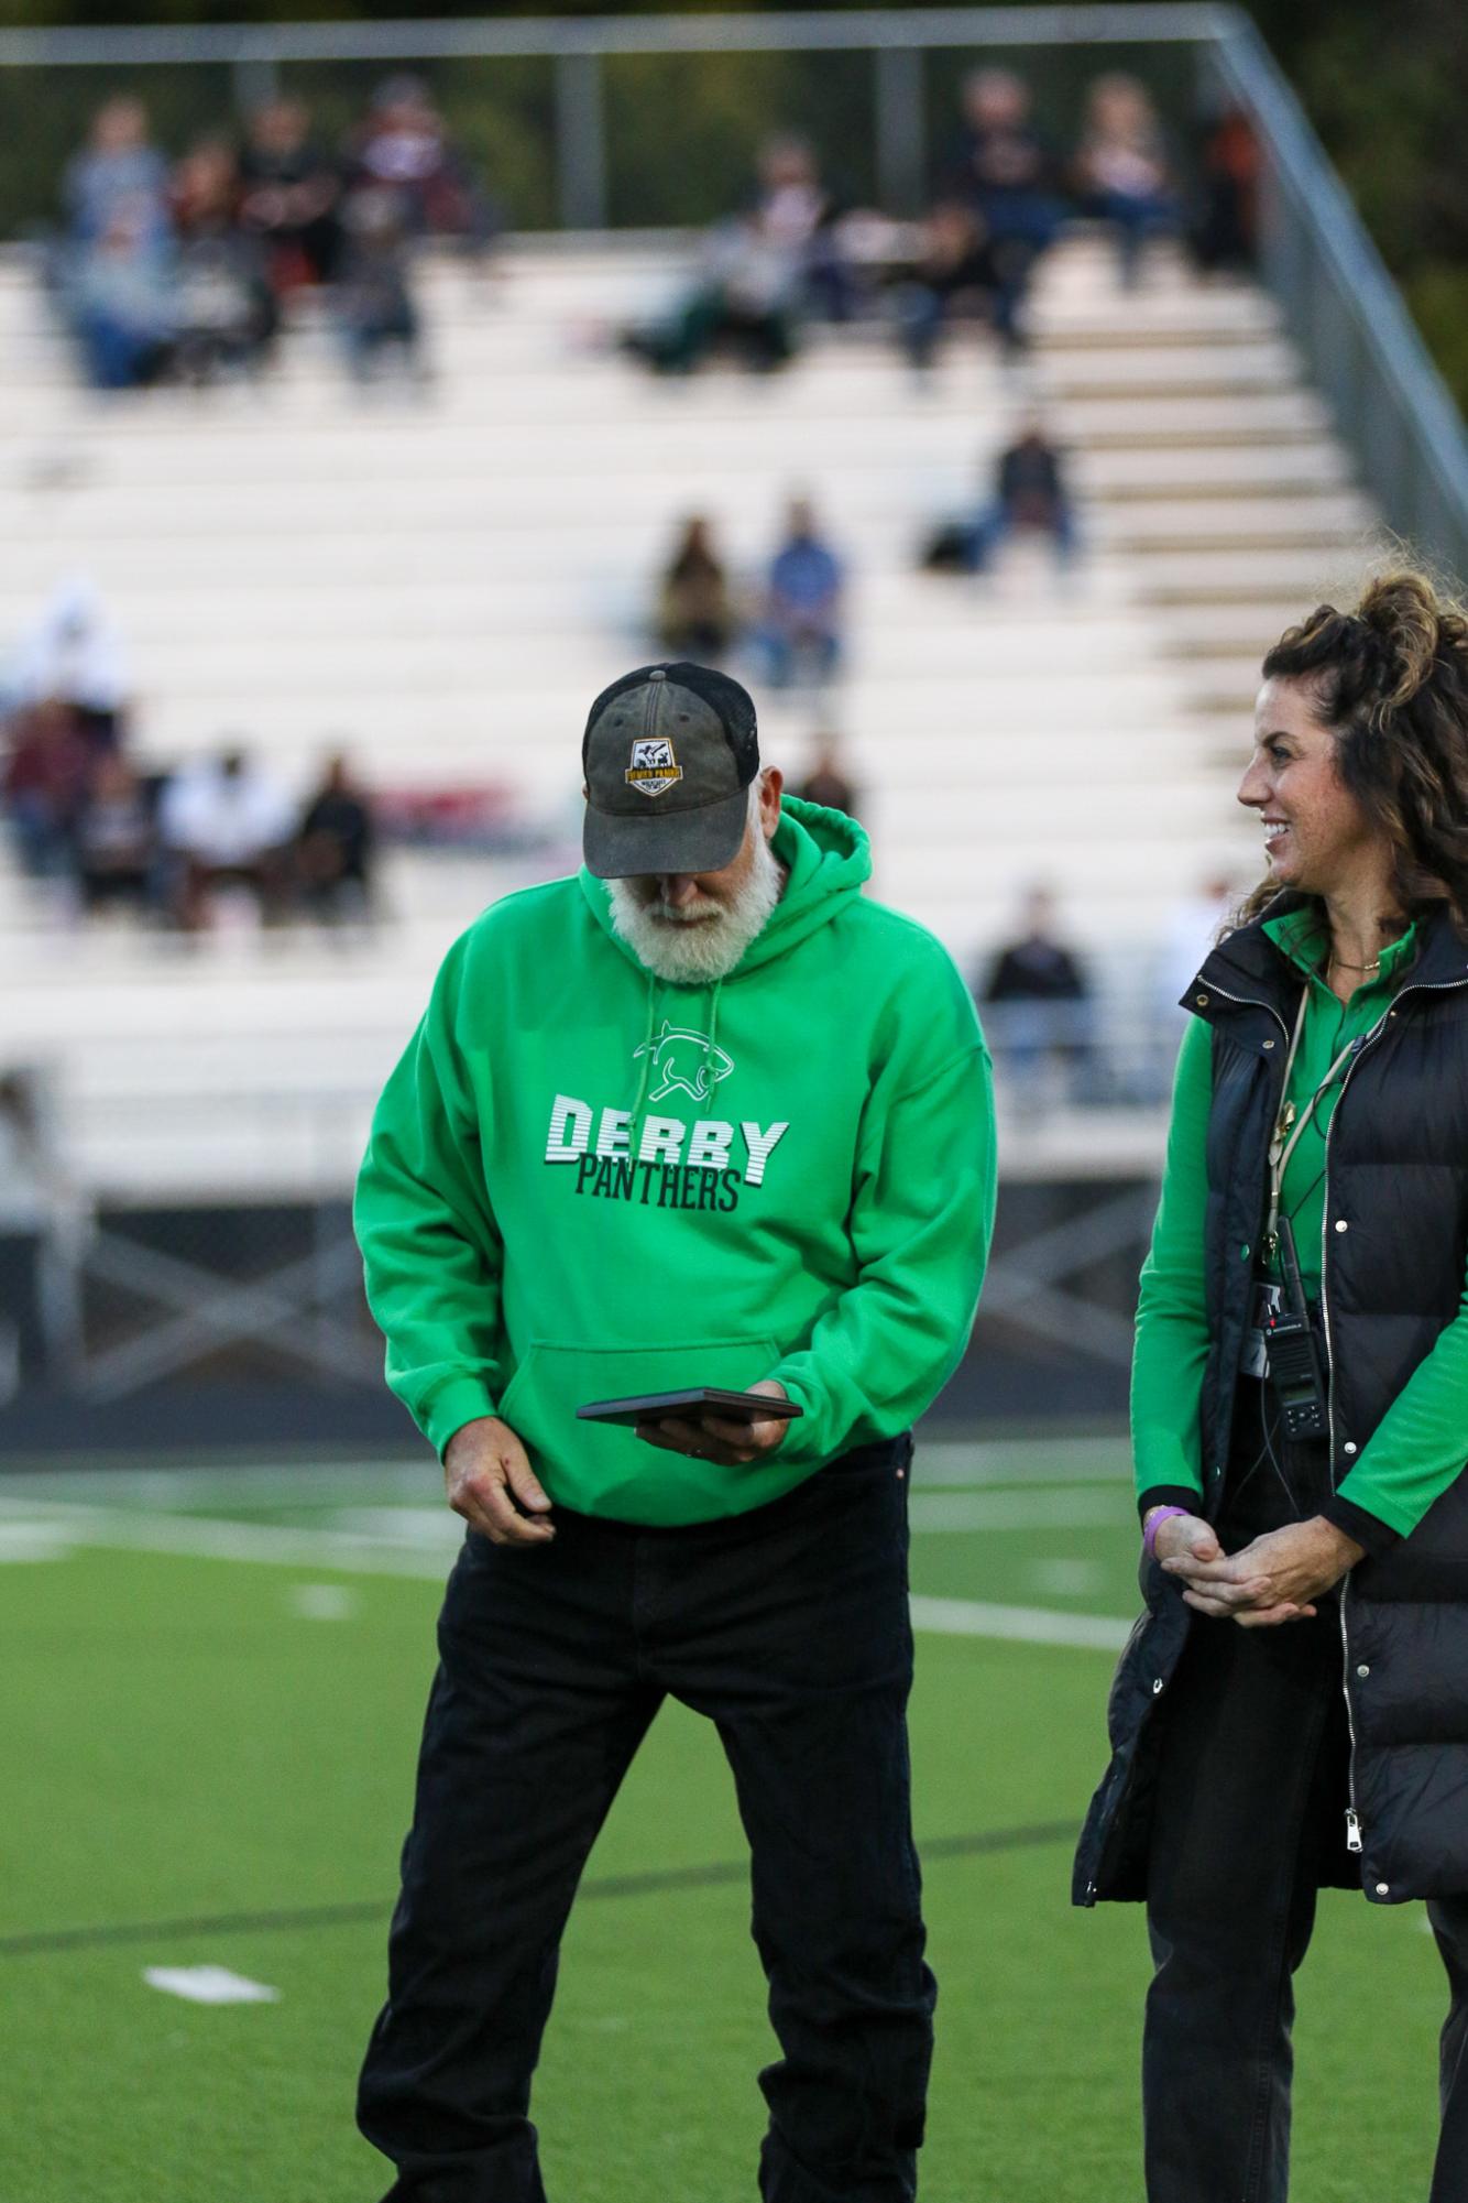
[[[557,1346],[537,1339],[515,1370],[500,1414],[524,1443],[552,1500],[627,1522],[704,1522],[744,1513],[788,1491],[803,1472],[726,1469],[645,1445],[614,1423],[581,1423],[577,1408],[643,1392],[722,1386],[746,1392],[779,1361],[770,1337],[687,1339],[673,1346]]]

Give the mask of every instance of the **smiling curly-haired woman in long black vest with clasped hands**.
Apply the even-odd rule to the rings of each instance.
[[[1186,994],[1131,1390],[1149,1615],[1076,1901],[1147,1899],[1149,2203],[1283,2203],[1321,1886],[1428,1899],[1468,2192],[1468,617],[1268,652],[1268,877]]]

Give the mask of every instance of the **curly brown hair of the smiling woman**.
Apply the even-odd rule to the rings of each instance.
[[[1307,681],[1336,736],[1336,771],[1393,848],[1409,916],[1446,901],[1468,934],[1468,608],[1420,571],[1371,582],[1354,612],[1321,604],[1285,628],[1266,681]],[[1279,883],[1239,912],[1257,919]]]

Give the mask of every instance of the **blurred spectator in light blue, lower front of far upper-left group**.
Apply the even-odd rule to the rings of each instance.
[[[119,200],[68,258],[62,286],[95,390],[143,390],[167,375],[178,335],[174,249],[145,209]]]

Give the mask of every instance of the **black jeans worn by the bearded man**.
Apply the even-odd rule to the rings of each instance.
[[[717,1723],[784,2058],[768,2203],[905,2203],[931,2058],[909,1815],[907,1465],[863,1447],[755,1513],[552,1547],[469,1535],[359,2124],[390,2203],[541,2203],[530,2075],[577,1879],[665,1696]]]

